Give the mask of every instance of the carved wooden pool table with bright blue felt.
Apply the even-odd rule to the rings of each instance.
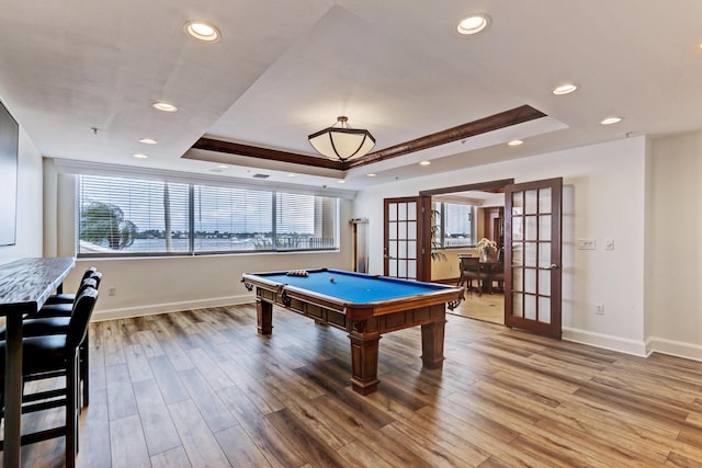
[[[256,287],[261,334],[273,331],[273,305],[349,332],[351,385],[361,395],[377,389],[383,333],[420,326],[423,366],[441,367],[446,305],[453,309],[463,298],[462,287],[331,269],[245,273],[241,281]]]

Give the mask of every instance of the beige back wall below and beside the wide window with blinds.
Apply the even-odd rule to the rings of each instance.
[[[56,255],[76,255],[75,175],[57,173],[50,161],[45,164],[47,246]],[[56,210],[56,215],[49,212]],[[340,203],[340,252],[260,253],[168,258],[77,259],[66,281],[66,289],[78,286],[80,275],[90,265],[103,274],[100,300],[93,320],[135,317],[176,310],[253,301],[253,293],[240,283],[246,272],[336,267],[352,270],[352,236],[349,221],[352,201]],[[114,288],[115,294],[110,295]]]

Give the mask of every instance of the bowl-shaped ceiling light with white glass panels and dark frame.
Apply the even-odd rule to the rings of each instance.
[[[375,146],[375,138],[369,130],[349,128],[346,117],[338,123],[346,127],[329,127],[309,135],[309,144],[327,158],[347,161],[365,156]]]

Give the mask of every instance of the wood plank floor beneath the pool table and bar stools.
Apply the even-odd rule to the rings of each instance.
[[[93,323],[78,466],[702,466],[702,363],[448,320],[443,369],[386,334],[366,397],[346,333],[278,308],[270,338],[252,305]]]

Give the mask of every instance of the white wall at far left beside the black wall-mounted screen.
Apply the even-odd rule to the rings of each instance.
[[[20,125],[16,243],[0,247],[0,264],[42,256],[42,155]]]

